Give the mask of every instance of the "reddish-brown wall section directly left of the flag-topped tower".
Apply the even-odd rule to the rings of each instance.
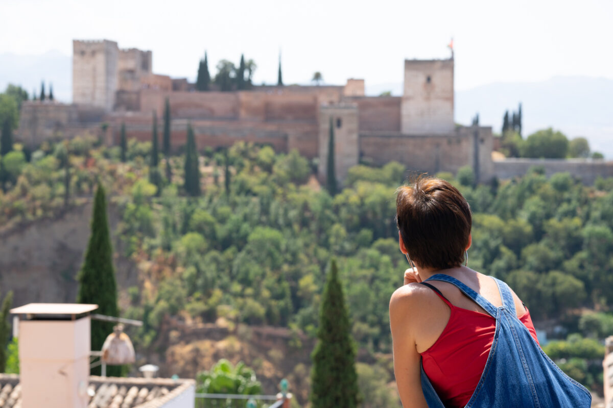
[[[400,97],[352,98],[357,103],[360,132],[400,132]]]

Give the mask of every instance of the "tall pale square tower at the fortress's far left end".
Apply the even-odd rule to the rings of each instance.
[[[111,111],[115,104],[119,48],[109,40],[72,42],[72,102]]]

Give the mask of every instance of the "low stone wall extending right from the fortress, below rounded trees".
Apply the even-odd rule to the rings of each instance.
[[[557,172],[569,172],[581,179],[584,184],[593,184],[596,177],[613,177],[613,161],[590,158],[506,158],[493,162],[495,176],[499,179],[512,179],[524,176],[533,166],[545,169],[547,177]]]

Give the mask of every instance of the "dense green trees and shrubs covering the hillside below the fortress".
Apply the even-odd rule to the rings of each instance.
[[[170,157],[170,180],[150,184],[150,147],[129,141],[122,163],[119,147],[89,136],[46,143],[29,162],[16,146],[0,224],[53,215],[91,197],[100,181],[121,211],[121,251],[139,267],[140,284],[120,289],[123,316],[144,322],[133,335],[137,349],[156,347],[170,317],[286,327],[299,349],[299,333],[316,333],[335,257],[355,341],[370,354],[390,353],[388,303],[407,267],[394,221],[395,189],[408,176],[402,165],[356,166],[330,196],[297,152],[237,143],[226,154],[201,152],[202,193],[190,197],[183,156]],[[588,187],[566,173],[548,180],[538,168],[491,185],[473,186],[470,168],[439,176],[473,210],[469,266],[506,280],[537,327],[557,327],[549,336],[560,339],[546,351],[565,358],[571,376],[601,387],[597,340],[613,334],[613,179]]]

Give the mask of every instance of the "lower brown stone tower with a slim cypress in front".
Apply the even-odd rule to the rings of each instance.
[[[359,161],[357,105],[339,103],[319,109],[319,179],[326,180],[330,119],[334,127],[334,166],[337,181],[345,180],[347,172]]]

